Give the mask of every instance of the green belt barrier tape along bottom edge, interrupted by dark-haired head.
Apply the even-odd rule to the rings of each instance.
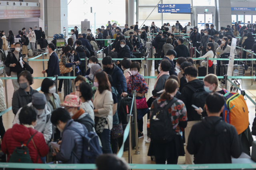
[[[95,164],[28,164],[28,163],[0,163],[1,168],[22,169],[96,169]],[[159,169],[159,170],[186,170],[186,169],[254,169],[256,163],[247,164],[129,164],[129,169]]]

